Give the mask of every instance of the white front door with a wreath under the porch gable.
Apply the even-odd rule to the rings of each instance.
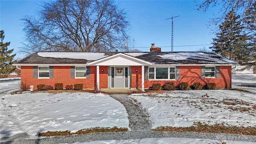
[[[125,68],[115,67],[115,88],[124,88]]]

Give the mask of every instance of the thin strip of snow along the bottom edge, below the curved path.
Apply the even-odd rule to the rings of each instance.
[[[243,142],[225,140],[227,144],[255,144],[255,142]],[[219,140],[196,138],[142,138],[138,140],[104,140],[93,142],[75,142],[73,144],[220,144]]]

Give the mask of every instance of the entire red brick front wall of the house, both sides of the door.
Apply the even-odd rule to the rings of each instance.
[[[137,72],[136,72],[137,69]],[[102,72],[103,70],[103,72]],[[141,88],[141,66],[132,66],[131,87]],[[63,83],[65,88],[69,84],[84,84],[83,88],[96,88],[96,66],[90,66],[90,78],[70,78],[70,66],[54,66],[54,78],[33,78],[33,66],[21,66],[21,82],[28,86],[46,84],[54,86],[55,83]],[[150,88],[154,83],[164,85],[166,82],[174,82],[175,86],[180,82],[194,82],[206,84],[216,83],[216,88],[231,88],[231,66],[220,66],[220,78],[201,78],[201,66],[180,66],[180,80],[175,81],[151,81],[144,80],[144,88]],[[108,88],[108,66],[100,66],[100,88]]]

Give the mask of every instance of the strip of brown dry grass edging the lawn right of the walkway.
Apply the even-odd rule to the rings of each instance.
[[[200,122],[194,123],[194,126],[189,127],[171,127],[160,126],[152,131],[160,132],[202,132],[202,133],[227,133],[227,134],[243,134],[256,136],[256,127],[238,127],[238,126],[224,126],[221,124],[208,125]]]

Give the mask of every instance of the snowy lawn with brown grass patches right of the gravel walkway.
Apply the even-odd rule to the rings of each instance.
[[[246,82],[255,84],[254,79]],[[176,90],[163,94],[132,94],[131,97],[148,111],[151,128],[192,126],[194,122],[256,126],[256,88],[251,91],[254,93],[237,90]]]

